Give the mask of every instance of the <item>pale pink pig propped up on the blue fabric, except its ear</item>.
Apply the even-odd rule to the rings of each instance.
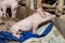
[[[40,13],[35,12],[32,15],[28,16],[27,18],[24,18],[23,20],[14,24],[10,31],[13,33],[13,35],[20,38],[20,33],[17,33],[18,30],[22,31],[29,31],[32,29],[32,33],[36,33],[36,30],[38,26],[47,20],[51,20],[52,18],[55,17],[55,15],[51,15],[48,12],[46,13],[46,17],[41,17]]]

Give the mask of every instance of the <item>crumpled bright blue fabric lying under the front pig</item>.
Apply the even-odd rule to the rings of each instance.
[[[14,35],[12,35],[12,33],[8,32],[8,31],[1,31],[0,32],[0,43],[8,43],[10,41],[20,41],[21,43],[30,39],[30,38],[41,38],[47,35],[53,26],[53,22],[50,23],[50,25],[46,28],[46,30],[42,32],[42,34],[34,34],[31,31],[28,32],[23,32],[23,37],[21,37],[21,39],[15,38]]]

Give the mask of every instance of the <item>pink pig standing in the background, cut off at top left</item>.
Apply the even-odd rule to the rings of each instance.
[[[17,0],[0,0],[1,11],[3,12],[3,17],[5,18],[5,12],[8,8],[11,8],[12,17],[15,17],[16,9],[17,9]]]

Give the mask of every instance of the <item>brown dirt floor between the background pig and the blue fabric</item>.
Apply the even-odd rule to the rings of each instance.
[[[20,20],[18,18],[10,19],[9,17],[6,17],[5,19],[3,19],[4,24],[0,25],[0,31],[9,30],[10,27],[18,20]]]

